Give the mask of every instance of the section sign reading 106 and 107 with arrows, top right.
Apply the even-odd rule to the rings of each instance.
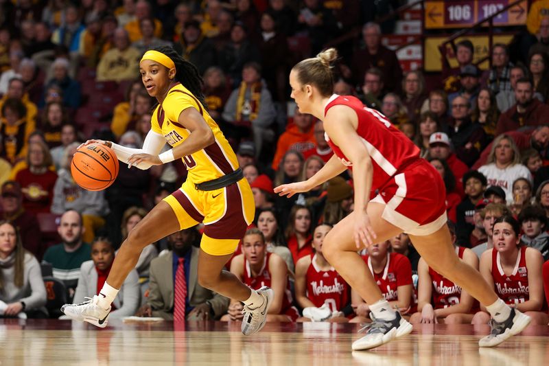
[[[425,29],[470,27],[478,21],[502,10],[515,0],[463,0],[426,1]],[[524,25],[528,1],[524,0],[513,8],[495,16],[494,25]]]

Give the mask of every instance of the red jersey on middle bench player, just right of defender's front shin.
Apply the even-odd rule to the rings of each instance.
[[[399,286],[412,284],[412,264],[406,256],[399,253],[387,253],[387,263],[382,273],[374,273],[369,255],[363,255],[362,259],[368,264],[373,279],[387,301],[398,300],[397,288]],[[412,304],[411,301],[412,299],[410,299],[410,304]]]

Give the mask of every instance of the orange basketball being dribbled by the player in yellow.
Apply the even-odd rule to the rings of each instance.
[[[74,181],[89,191],[101,191],[113,184],[118,175],[118,159],[113,149],[89,144],[76,150],[71,163]]]

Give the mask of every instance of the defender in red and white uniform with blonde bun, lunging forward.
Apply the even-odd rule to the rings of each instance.
[[[352,168],[355,211],[332,229],[323,253],[336,271],[369,304],[372,323],[353,350],[377,347],[412,332],[383,299],[357,250],[384,242],[405,231],[421,257],[435,271],[461,286],[491,314],[491,334],[479,345],[492,347],[521,332],[530,318],[510,308],[474,268],[460,262],[445,225],[445,187],[441,176],[419,149],[381,113],[352,96],[333,94],[330,64],[337,58],[327,49],[299,62],[290,72],[290,95],[301,113],[324,121],[326,139],[335,155],[307,181],[280,185],[274,192],[293,196],[307,192]],[[374,196],[374,192],[379,194]]]

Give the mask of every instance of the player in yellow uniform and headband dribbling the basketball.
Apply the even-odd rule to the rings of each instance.
[[[106,144],[115,150],[119,160],[139,169],[183,159],[187,165],[187,180],[130,231],[100,293],[82,304],[67,304],[62,311],[72,319],[103,328],[110,303],[135,267],[143,248],[175,231],[203,222],[198,283],[242,301],[242,332],[253,334],[265,324],[272,290],[268,287],[250,290],[235,275],[223,270],[254,217],[250,185],[244,179],[235,152],[205,109],[202,78],[196,67],[181,58],[172,47],[159,47],[145,52],[139,71],[145,89],[159,102],[143,149],[100,140],[90,140],[86,144]],[[166,142],[172,148],[160,154]],[[174,312],[178,310],[185,314],[184,307],[185,304],[175,304]]]

